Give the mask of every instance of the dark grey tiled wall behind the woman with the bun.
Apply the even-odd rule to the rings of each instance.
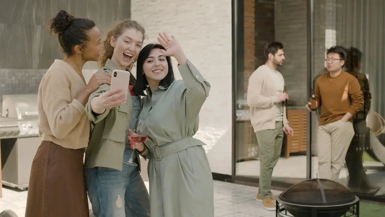
[[[2,95],[37,93],[54,59],[64,58],[49,20],[59,10],[94,20],[104,37],[116,20],[131,17],[131,0],[1,0],[0,102]],[[96,63],[84,66],[88,80]]]

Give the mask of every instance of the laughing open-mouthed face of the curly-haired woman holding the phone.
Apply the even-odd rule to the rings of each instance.
[[[143,45],[143,34],[134,28],[126,29],[119,37],[111,37],[110,43],[114,47],[112,61],[119,69],[125,70],[136,60]]]

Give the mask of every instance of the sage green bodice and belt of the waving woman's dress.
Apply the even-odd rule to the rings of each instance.
[[[160,161],[188,147],[206,145],[192,136],[198,131],[199,112],[211,85],[189,60],[177,67],[182,80],[158,86],[153,92],[147,88],[143,98],[139,119],[149,123],[144,158]]]

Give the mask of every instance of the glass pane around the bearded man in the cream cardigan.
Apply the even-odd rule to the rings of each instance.
[[[261,147],[250,122],[246,91],[249,85],[257,85],[249,83],[249,76],[266,63],[264,46],[269,42],[278,41],[283,44],[285,60],[277,70],[282,74],[287,86],[289,100],[286,116],[294,130],[294,136],[284,136],[281,142],[282,147],[277,151],[279,159],[273,169],[272,181],[295,184],[306,179],[305,102],[310,91],[307,90],[305,79],[308,73],[306,1],[253,2],[254,7],[249,7],[246,3],[244,5],[244,57],[241,60],[244,71],[238,71],[236,75],[236,175],[256,179],[261,177]],[[250,15],[251,13],[254,13],[254,16]]]

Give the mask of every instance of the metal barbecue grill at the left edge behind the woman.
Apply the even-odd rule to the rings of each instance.
[[[3,95],[0,117],[2,183],[28,187],[33,158],[40,145],[37,94]]]

